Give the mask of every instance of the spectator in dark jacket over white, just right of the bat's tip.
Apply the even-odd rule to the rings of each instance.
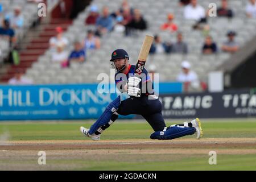
[[[163,43],[159,35],[154,36],[154,42],[150,48],[150,53],[170,53],[171,43]]]

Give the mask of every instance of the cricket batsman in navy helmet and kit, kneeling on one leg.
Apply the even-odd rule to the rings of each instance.
[[[106,107],[104,113],[90,129],[81,126],[80,131],[85,137],[100,140],[101,134],[112,125],[118,115],[129,114],[139,114],[146,119],[154,130],[154,133],[150,135],[151,139],[168,140],[195,133],[196,139],[200,139],[203,136],[199,118],[193,119],[191,122],[166,127],[162,115],[162,104],[158,97],[154,95],[150,76],[145,68],[142,70],[141,77],[134,74],[135,65],[129,64],[129,55],[125,50],[116,49],[113,51],[110,62],[112,62],[112,66],[117,71],[115,73],[117,88],[122,93],[127,93],[130,98],[121,101],[120,96],[118,96]],[[119,76],[120,74],[125,75],[125,78]],[[148,89],[148,84],[152,89]],[[142,92],[142,90],[146,91]]]

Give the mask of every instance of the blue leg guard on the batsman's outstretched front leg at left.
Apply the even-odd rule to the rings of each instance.
[[[88,132],[90,135],[94,134],[99,127],[104,126],[110,121],[112,114],[118,109],[120,102],[120,96],[118,96],[114,101],[110,102],[105,111],[101,114],[100,118],[98,118],[98,120],[90,127]]]

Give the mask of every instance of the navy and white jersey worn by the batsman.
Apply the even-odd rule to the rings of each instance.
[[[115,85],[117,85],[117,88],[121,92],[125,92],[125,90],[123,90],[122,88],[123,87],[122,85],[126,84],[126,81],[128,80],[129,77],[134,76],[135,67],[136,67],[135,65],[129,64],[129,71],[127,73],[122,73],[122,72],[115,73]],[[125,78],[124,76],[126,76],[126,80],[124,79]],[[152,85],[150,75],[148,75],[148,72],[145,68],[143,68],[142,74],[141,76],[139,76],[139,78],[141,78],[141,82],[139,83],[139,88],[142,91],[142,95],[144,94],[148,96],[148,95],[154,94],[154,88]]]

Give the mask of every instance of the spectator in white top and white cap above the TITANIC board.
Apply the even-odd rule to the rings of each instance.
[[[177,76],[177,81],[183,82],[184,91],[188,92],[189,88],[200,89],[200,81],[197,74],[191,70],[191,65],[188,61],[181,63],[182,71]]]

